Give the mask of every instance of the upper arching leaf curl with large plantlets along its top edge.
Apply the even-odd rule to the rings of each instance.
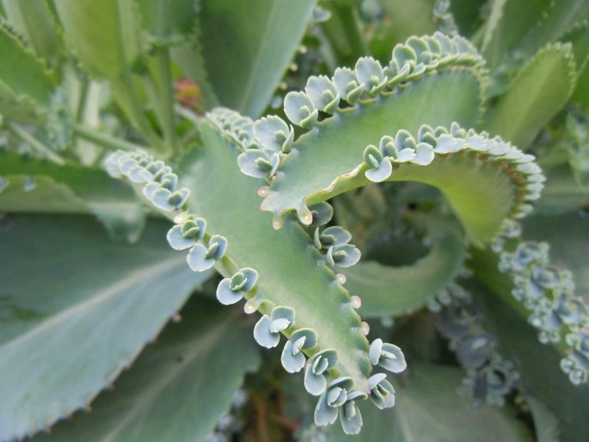
[[[424,86],[424,82],[429,80],[434,82],[436,74],[468,72],[468,75],[472,76],[476,86],[473,87],[473,90],[470,90],[470,93],[476,96],[474,101],[478,102],[468,102],[468,104],[461,102],[456,104],[455,107],[458,108],[461,105],[468,107],[472,105],[473,109],[470,109],[472,113],[464,114],[463,118],[470,118],[471,123],[474,125],[476,119],[473,118],[473,114],[474,116],[483,114],[484,109],[486,70],[483,64],[483,59],[468,40],[459,36],[449,38],[442,33],[436,32],[432,36],[426,35],[422,38],[412,37],[407,40],[407,43],[396,45],[392,51],[392,60],[387,67],[382,68],[380,63],[371,57],[363,57],[356,63],[355,70],[338,68],[334,73],[334,77],[331,79],[324,76],[309,77],[305,92],[290,92],[285,97],[285,114],[287,117],[295,125],[309,131],[303,133],[295,141],[289,139],[282,149],[282,153],[279,153],[281,156],[280,164],[268,176],[270,186],[267,189],[260,189],[264,197],[260,208],[264,211],[273,212],[276,228],[280,228],[282,215],[291,209],[296,209],[297,216],[299,216],[299,219],[303,223],[310,223],[307,200],[312,204],[314,201],[310,200],[316,196],[315,194],[319,193],[321,195],[316,196],[318,200],[324,200],[333,196],[334,189],[343,185],[341,184],[342,181],[359,173],[358,168],[354,169],[357,163],[354,164],[353,160],[348,160],[349,164],[346,163],[346,166],[340,167],[340,170],[337,171],[327,170],[326,165],[321,165],[321,173],[313,176],[325,175],[324,172],[328,172],[331,175],[324,178],[321,184],[310,183],[307,185],[307,192],[304,192],[304,190],[299,191],[300,193],[304,193],[302,195],[290,194],[292,193],[291,187],[295,185],[293,180],[297,179],[296,176],[289,179],[293,173],[292,168],[299,167],[297,164],[303,158],[310,158],[304,161],[305,167],[310,167],[318,162],[313,162],[312,160],[313,155],[316,153],[309,153],[309,151],[316,151],[323,147],[321,143],[326,143],[325,138],[331,135],[331,133],[328,133],[330,126],[335,127],[337,125],[336,129],[341,130],[345,127],[346,123],[349,123],[349,125],[356,123],[356,127],[360,127],[360,118],[365,118],[365,123],[371,123],[373,126],[375,117],[380,117],[382,122],[379,121],[379,124],[380,126],[384,124],[384,126],[380,128],[380,131],[375,131],[380,133],[381,136],[387,132],[394,131],[395,128],[390,127],[391,123],[387,118],[391,114],[395,114],[395,112],[397,115],[407,112],[402,107],[400,109],[392,107],[397,105],[395,100],[402,99],[403,96],[411,93],[417,94],[418,92],[414,92],[414,87],[429,87],[427,84]],[[466,85],[463,85],[462,88],[461,91],[464,92]],[[443,94],[443,91],[444,88],[439,87],[435,92]],[[429,92],[431,93],[431,91]],[[444,98],[440,99],[443,100]],[[419,99],[419,96],[417,99]],[[339,107],[341,100],[346,101],[351,107]],[[386,109],[386,106],[389,106],[391,109]],[[402,106],[402,104],[397,105],[397,107],[399,106]],[[441,106],[441,104],[438,106]],[[325,118],[323,121],[317,121],[319,111],[328,114],[330,117]],[[368,111],[372,111],[373,113],[367,115]],[[420,123],[415,123],[413,120],[410,123],[416,126],[416,130],[419,128],[417,124],[422,124],[424,119],[428,119],[423,115],[424,109],[419,109],[419,111],[422,111],[419,116]],[[458,112],[458,109],[456,109],[456,112]],[[278,117],[268,116],[267,118],[261,118],[256,121],[255,126],[269,126],[268,120],[270,118],[277,121],[276,118]],[[434,119],[434,117],[429,118]],[[450,123],[451,120],[448,120],[448,126]],[[405,127],[407,123],[396,122],[396,125],[397,128],[407,128]],[[288,126],[286,123],[280,123],[280,126],[282,128],[277,131],[275,136],[277,138],[284,138],[284,128]],[[434,123],[434,126],[438,125]],[[333,129],[331,131],[333,132]],[[292,132],[292,126],[290,132]],[[356,133],[353,135],[356,135]],[[289,134],[289,137],[292,138],[292,135]],[[368,136],[359,137],[360,140],[356,140],[358,137],[352,138],[356,147],[359,145],[365,147],[377,141],[372,137],[372,133]],[[317,142],[314,143],[314,141]],[[341,142],[342,140],[338,141]],[[267,147],[265,143],[267,143],[266,140],[261,141],[261,150],[273,149]],[[345,153],[341,151],[343,149],[341,143],[337,147],[330,145],[329,148],[331,150],[340,150],[338,153],[340,158],[338,160],[342,160],[341,157],[350,156],[348,154],[351,150]],[[324,148],[324,150],[326,149],[327,147]],[[331,155],[331,157],[334,158],[334,155]],[[319,167],[319,165],[317,166]],[[337,165],[334,165],[334,167],[337,167]],[[243,170],[243,168],[242,171],[246,175],[251,173],[248,170]],[[327,181],[328,179],[330,180]],[[297,185],[300,186],[302,184]],[[285,189],[282,192],[283,194],[281,194],[281,186]],[[326,194],[329,194],[329,196],[326,196]]]

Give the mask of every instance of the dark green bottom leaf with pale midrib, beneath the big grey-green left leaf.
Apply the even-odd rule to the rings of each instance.
[[[168,325],[91,413],[75,414],[33,441],[204,441],[246,372],[260,363],[247,322],[214,304],[193,298],[180,324]]]

